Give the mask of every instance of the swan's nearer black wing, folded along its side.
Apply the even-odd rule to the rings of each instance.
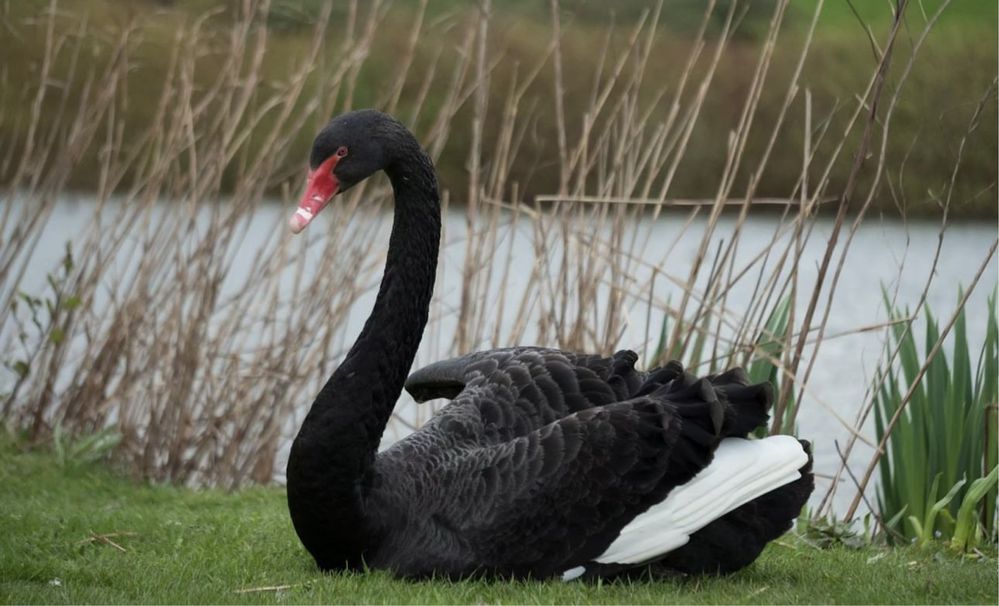
[[[411,487],[398,503],[409,514],[384,522],[394,537],[386,563],[410,574],[552,576],[594,560],[710,462],[723,404],[707,380],[687,379],[509,441],[433,449],[432,466],[413,465],[428,457],[406,446],[386,451],[379,467],[407,468],[387,489]]]

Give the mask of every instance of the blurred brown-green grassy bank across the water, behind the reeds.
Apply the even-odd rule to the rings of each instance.
[[[469,188],[469,154],[480,141],[474,134],[476,114],[486,117],[482,123],[481,148],[487,153],[482,167],[495,171],[497,164],[509,163],[510,181],[517,183],[518,193],[528,200],[535,195],[558,192],[560,188],[562,121],[557,100],[561,99],[564,113],[564,134],[571,142],[586,130],[587,120],[594,115],[592,100],[599,96],[600,87],[612,79],[615,70],[620,71],[619,84],[608,89],[611,97],[606,108],[620,100],[621,83],[645,71],[634,87],[635,98],[627,101],[635,104],[631,111],[648,111],[649,132],[673,119],[670,116],[673,95],[679,95],[678,91],[684,88],[687,58],[700,43],[699,3],[668,2],[660,14],[646,15],[643,21],[648,3],[625,3],[615,20],[607,10],[586,3],[563,2],[561,46],[557,53],[561,62],[560,79],[555,72],[556,53],[550,46],[554,25],[547,3],[498,0],[492,4],[484,29],[477,22],[477,10],[467,3],[434,0],[427,4],[425,14],[418,10],[417,3],[396,3],[383,7],[384,10],[376,9],[377,17],[373,20],[370,7],[378,3],[361,3],[354,8],[349,2],[334,4],[322,49],[313,62],[316,73],[305,83],[303,94],[305,99],[318,97],[320,106],[328,109],[317,112],[304,128],[293,133],[294,145],[282,160],[285,164],[282,179],[270,184],[271,192],[280,191],[282,185],[297,187],[297,171],[307,155],[315,127],[346,107],[377,106],[404,117],[414,116],[412,123],[421,138],[425,138],[425,133],[438,129],[433,117],[436,110],[453,103],[454,113],[449,118],[453,125],[447,128],[447,143],[439,150],[438,168],[445,189],[455,193],[458,203],[467,201],[464,192]],[[731,4],[719,3],[705,20],[708,44],[701,57],[689,66],[693,81],[704,78],[709,71],[716,73],[707,79],[711,81],[710,88],[699,104],[699,117],[694,120],[696,124],[686,143],[684,162],[671,177],[669,197],[715,196],[719,182],[725,179],[730,135],[739,130],[744,104],[755,94],[753,74],[761,53],[766,52],[764,38],[776,3],[737,6],[732,13],[728,48],[713,64],[713,45],[722,38],[727,7]],[[897,103],[892,102],[897,107],[891,121],[892,136],[884,150],[885,175],[873,206],[889,216],[939,214],[944,204],[950,206],[952,216],[996,216],[997,143],[992,136],[996,130],[995,103],[987,103],[985,111],[974,117],[983,96],[993,94],[990,86],[997,69],[996,6],[986,2],[951,4],[939,18],[935,15],[940,5],[937,1],[921,2],[908,11],[904,35],[889,72],[889,94],[897,94],[898,99]],[[3,22],[8,35],[5,52],[0,56],[5,89],[0,95],[0,141],[8,148],[20,147],[32,123],[31,99],[39,87],[50,27],[40,16],[49,5],[49,0],[25,0],[2,9],[6,12]],[[128,124],[129,131],[141,130],[155,120],[167,80],[165,74],[171,70],[173,50],[178,45],[192,43],[178,38],[176,32],[206,14],[212,15],[204,24],[210,35],[197,43],[198,69],[190,83],[194,90],[210,89],[220,84],[217,74],[225,67],[220,57],[226,40],[234,35],[252,36],[252,30],[247,30],[247,35],[234,25],[239,19],[235,7],[240,5],[210,0],[57,3],[62,18],[55,21],[54,35],[70,33],[87,40],[79,52],[55,57],[45,80],[48,86],[82,90],[85,86],[82,75],[91,70],[99,73],[102,64],[115,52],[114,41],[122,32],[129,31],[128,86],[120,93],[119,119]],[[806,142],[818,147],[812,168],[806,171],[808,181],[815,183],[822,178],[822,167],[833,153],[830,146],[819,146],[819,141],[825,135],[835,139],[849,130],[850,106],[864,95],[880,52],[881,43],[869,40],[867,28],[876,39],[884,38],[891,24],[890,3],[862,4],[856,16],[843,1],[829,0],[825,5],[795,87],[797,92],[786,117],[780,118],[787,85],[794,79],[798,59],[806,46],[816,3],[792,2],[787,10],[760,93],[756,126],[749,129],[745,143],[747,166],[733,175],[732,190],[739,195],[754,177],[753,161],[770,154],[767,169],[756,176],[756,195],[794,197],[802,176]],[[272,37],[261,56],[262,77],[255,86],[258,92],[249,100],[251,107],[260,107],[269,91],[289,86],[289,66],[310,52],[312,29],[322,15],[321,6],[321,2],[309,0],[273,2],[266,23]],[[211,12],[213,8],[220,10]],[[932,31],[925,41],[920,41],[923,29],[931,21]],[[639,47],[651,44],[648,59],[635,56],[617,65],[614,55],[628,47],[638,23],[644,23],[648,32],[654,29],[647,41],[644,32],[639,38]],[[486,32],[481,47],[485,53],[486,77],[474,83],[474,87],[459,87],[457,98],[452,98],[455,78],[473,69],[466,61],[480,52],[479,42],[473,38],[481,31]],[[907,63],[913,56],[918,58],[910,70]],[[324,91],[320,84],[322,74],[340,69],[356,76],[352,85]],[[396,75],[400,70],[406,75],[398,87]],[[69,76],[71,72],[76,76]],[[479,86],[486,88],[485,96],[479,108],[474,109],[473,105],[479,103]],[[521,126],[512,154],[505,157],[501,148],[510,109],[508,98],[511,90],[521,87],[523,97],[519,110],[515,110],[519,112],[517,119]],[[690,95],[693,90],[696,89],[688,84],[685,94]],[[416,116],[419,106],[424,110],[421,116]],[[46,102],[42,114],[64,110],[53,99]],[[265,117],[256,128],[266,128],[270,119]],[[874,140],[880,138],[883,126],[886,125],[876,129]],[[775,128],[780,132],[779,141],[768,151]],[[969,129],[973,135],[964,145],[959,169],[955,171],[955,154]],[[853,149],[859,141],[859,131],[853,132],[845,139],[847,149]],[[252,157],[259,146],[266,144],[266,137],[251,136],[243,149]],[[72,187],[99,187],[100,153],[99,146],[95,146],[82,156],[73,171]],[[601,160],[606,161],[609,160]],[[829,175],[831,190],[842,189],[849,170],[849,162],[834,163]],[[6,179],[3,172],[0,168],[0,183]],[[865,170],[860,175],[861,182],[872,182],[873,172],[870,168]],[[948,194],[952,175],[953,191]],[[223,179],[225,188],[233,190],[240,179],[239,170],[229,167]],[[603,193],[593,185],[584,188],[587,193]]]

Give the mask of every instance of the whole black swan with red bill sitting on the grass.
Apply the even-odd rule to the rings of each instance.
[[[316,397],[288,459],[288,507],[323,570],[403,577],[613,577],[730,572],[787,531],[812,491],[810,447],[745,439],[768,384],[741,369],[695,378],[676,362],[515,347],[409,371],[440,239],[434,167],[375,110],[315,139],[299,232],[378,170],[395,218],[371,316]],[[377,452],[405,387],[451,402]]]

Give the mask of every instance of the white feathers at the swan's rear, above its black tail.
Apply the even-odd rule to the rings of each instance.
[[[790,436],[772,436],[762,440],[724,439],[710,465],[689,482],[673,489],[662,502],[629,522],[611,545],[595,558],[595,563],[635,566],[659,560],[687,545],[698,531],[766,495],[768,498],[746,508],[744,513],[733,516],[728,522],[753,526],[753,532],[743,534],[752,535],[747,540],[759,542],[759,549],[762,549],[762,545],[770,539],[755,537],[772,538],[771,535],[777,536],[786,530],[804,502],[802,495],[807,498],[811,492],[811,476],[807,471],[809,461],[807,443]],[[808,477],[806,482],[794,484],[805,476]],[[781,491],[780,488],[786,485],[794,487]],[[760,511],[771,509],[772,514],[757,517],[762,515]],[[737,518],[739,521],[736,521]],[[724,543],[726,539],[722,535],[725,525],[719,524],[717,529],[707,534],[712,537],[718,535],[713,540],[722,541],[720,548],[727,549],[731,545]],[[756,526],[759,526],[758,533],[755,532]],[[731,541],[731,538],[728,540]],[[758,554],[759,550],[749,561]],[[712,560],[706,556],[703,561],[709,566]]]

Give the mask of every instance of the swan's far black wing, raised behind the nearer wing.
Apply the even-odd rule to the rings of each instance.
[[[594,406],[653,394],[676,380],[695,381],[678,362],[642,372],[635,369],[637,359],[628,350],[607,357],[538,347],[495,349],[426,366],[410,375],[406,389],[420,401],[452,400],[427,431],[463,436],[480,446]],[[751,385],[739,368],[706,379],[725,404],[724,436],[745,437],[766,423],[773,400],[769,384]]]

